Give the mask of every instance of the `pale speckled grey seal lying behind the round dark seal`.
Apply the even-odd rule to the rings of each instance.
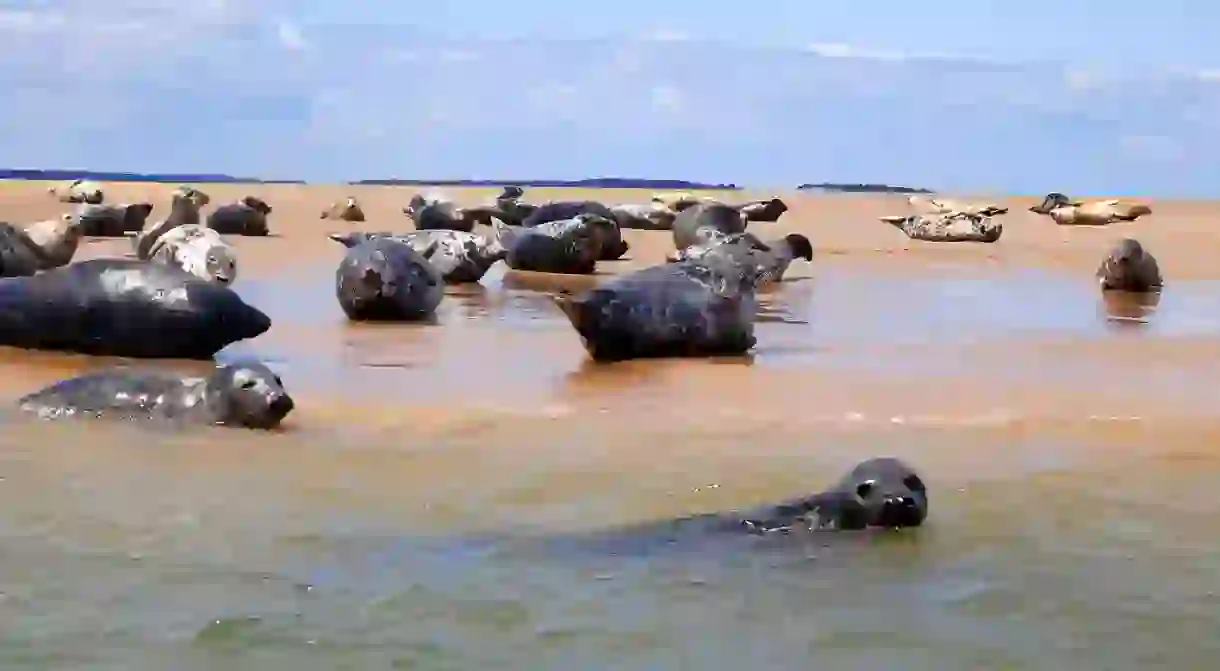
[[[440,272],[447,284],[478,282],[497,261],[508,255],[497,235],[462,231],[351,232],[331,233],[328,237],[349,249],[381,238],[409,244],[418,254],[431,254],[428,261]]]

